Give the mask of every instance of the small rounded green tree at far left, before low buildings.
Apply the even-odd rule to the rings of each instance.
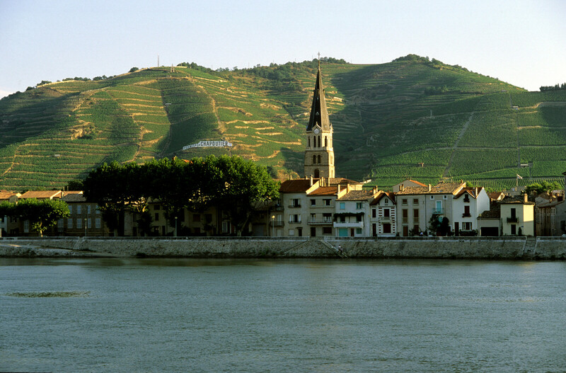
[[[32,231],[43,232],[57,224],[57,220],[69,217],[69,206],[62,200],[20,200],[13,212],[15,216],[30,222]]]

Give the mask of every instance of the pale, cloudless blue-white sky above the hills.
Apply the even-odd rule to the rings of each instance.
[[[566,82],[566,1],[0,0],[0,97],[42,80],[195,62],[418,54],[529,91]],[[158,57],[159,56],[159,57]]]

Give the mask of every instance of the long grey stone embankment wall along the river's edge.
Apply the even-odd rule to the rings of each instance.
[[[566,260],[566,238],[7,237],[0,239],[0,256]]]

